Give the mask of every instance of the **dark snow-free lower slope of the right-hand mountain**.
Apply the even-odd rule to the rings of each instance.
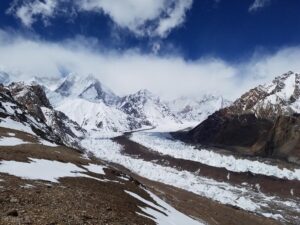
[[[186,140],[300,164],[299,115],[278,116],[274,122],[254,114],[224,115],[218,111],[186,134]]]

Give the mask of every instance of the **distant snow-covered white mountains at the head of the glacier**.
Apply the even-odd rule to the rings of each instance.
[[[3,74],[6,83],[13,81],[8,73]],[[39,77],[14,85],[20,90],[40,86],[49,99],[48,108],[64,113],[82,130],[99,131],[101,137],[137,129],[176,130],[193,126],[230,103],[212,95],[166,101],[145,89],[118,96],[93,75],[75,73],[59,80]],[[38,105],[45,108],[45,104]]]

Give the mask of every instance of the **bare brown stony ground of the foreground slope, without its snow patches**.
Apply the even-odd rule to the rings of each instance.
[[[1,129],[1,136],[13,132],[16,137],[32,144],[0,147],[1,160],[28,162],[29,158],[70,162],[77,166],[103,164],[87,159],[66,147],[49,147],[37,143],[36,138],[13,130]],[[51,168],[50,168],[51,169]],[[149,224],[154,222],[136,212],[142,202],[124,192],[128,190],[148,199],[138,181],[124,179],[122,172],[107,168],[105,176],[92,172],[87,175],[106,179],[101,182],[84,177],[61,178],[59,183],[26,180],[0,173],[0,224]]]

